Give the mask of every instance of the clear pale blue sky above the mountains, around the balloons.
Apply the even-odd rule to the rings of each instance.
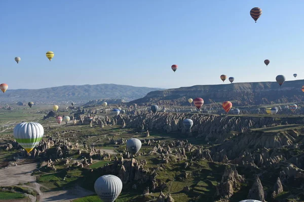
[[[257,23],[253,7],[263,11]],[[304,79],[303,7],[302,0],[0,1],[0,83],[175,88],[221,84],[221,74],[235,82]]]

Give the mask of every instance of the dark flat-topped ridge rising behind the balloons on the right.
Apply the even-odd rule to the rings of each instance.
[[[130,104],[157,103],[159,105],[189,105],[188,98],[202,97],[205,104],[234,101],[234,105],[267,105],[302,102],[304,80],[286,81],[282,88],[277,82],[195,85],[149,92]]]

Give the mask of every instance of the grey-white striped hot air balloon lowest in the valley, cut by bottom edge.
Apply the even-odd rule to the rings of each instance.
[[[94,189],[103,202],[113,202],[122,192],[123,183],[115,175],[103,175],[95,181]]]

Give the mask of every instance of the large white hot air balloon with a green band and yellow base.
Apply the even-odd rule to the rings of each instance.
[[[23,122],[15,126],[13,134],[20,146],[29,153],[37,144],[39,144],[43,137],[44,129],[40,123]]]

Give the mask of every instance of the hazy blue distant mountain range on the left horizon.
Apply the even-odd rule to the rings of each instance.
[[[145,96],[161,88],[135,87],[130,85],[97,84],[65,85],[42,89],[8,89],[0,95],[0,103],[11,102],[82,102],[92,99],[123,99],[125,102]]]

